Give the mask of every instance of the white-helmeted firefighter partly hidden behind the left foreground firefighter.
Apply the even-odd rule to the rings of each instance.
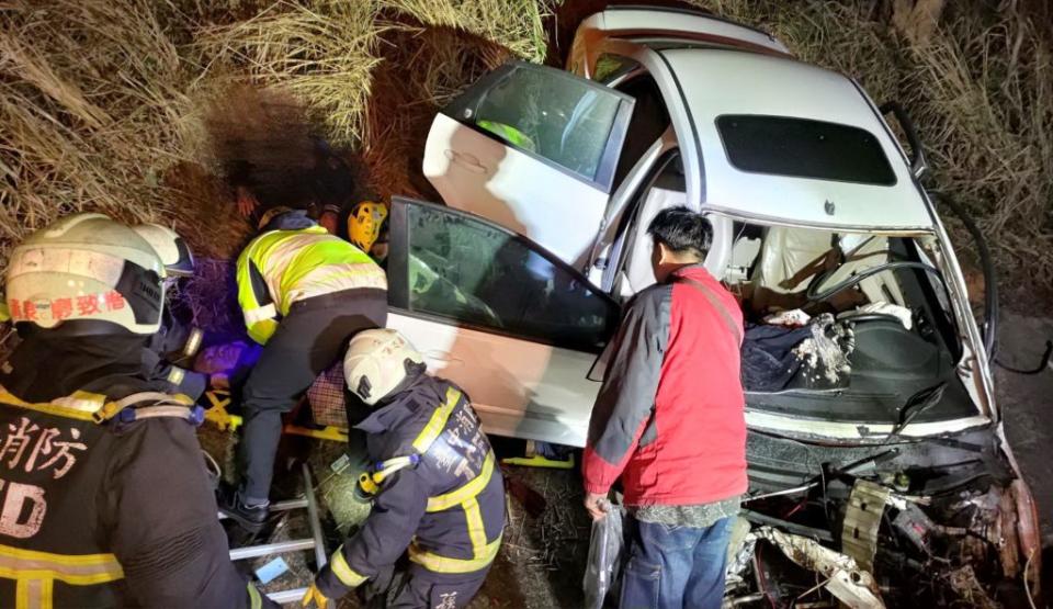
[[[166,292],[179,280],[194,274],[194,257],[190,246],[171,228],[160,224],[133,226],[150,244],[165,266]],[[195,402],[208,388],[208,375],[188,370],[188,362],[201,350],[205,332],[177,317],[170,306],[161,314],[161,327],[150,337],[143,351],[143,366],[152,379],[171,383],[171,391],[192,397]]]

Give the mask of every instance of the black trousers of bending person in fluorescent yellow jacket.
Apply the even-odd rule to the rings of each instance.
[[[282,414],[292,410],[315,377],[343,356],[351,337],[386,323],[387,293],[383,290],[349,290],[291,307],[241,392],[244,497],[261,501],[270,494]]]

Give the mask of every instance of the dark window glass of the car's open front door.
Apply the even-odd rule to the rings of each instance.
[[[502,228],[411,204],[407,230],[411,312],[590,351],[618,322],[618,307],[605,295]]]

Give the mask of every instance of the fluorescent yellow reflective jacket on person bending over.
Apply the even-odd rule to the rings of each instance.
[[[238,257],[238,304],[249,336],[267,343],[293,303],[344,290],[387,289],[373,260],[320,226],[271,230]]]

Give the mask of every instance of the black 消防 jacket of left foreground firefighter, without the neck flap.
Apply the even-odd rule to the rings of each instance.
[[[0,387],[0,607],[273,607],[230,564],[193,426],[92,422],[105,404]]]

